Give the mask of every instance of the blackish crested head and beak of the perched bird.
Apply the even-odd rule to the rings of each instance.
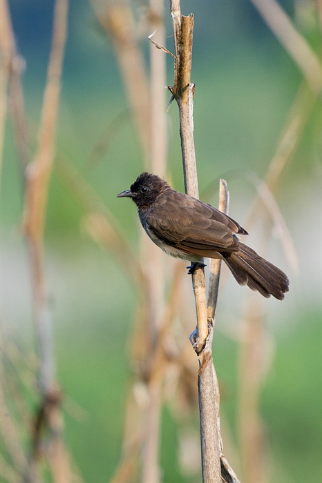
[[[129,197],[133,199],[138,208],[147,208],[169,188],[169,184],[164,179],[151,175],[149,172],[142,172],[131,188],[119,193],[117,198]]]

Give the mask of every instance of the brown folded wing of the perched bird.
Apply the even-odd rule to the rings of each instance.
[[[165,243],[203,257],[238,251],[236,233],[247,235],[236,221],[216,208],[174,190],[155,201],[146,221]]]

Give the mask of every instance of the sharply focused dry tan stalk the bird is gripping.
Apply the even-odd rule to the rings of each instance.
[[[193,91],[191,83],[193,15],[184,17],[180,1],[171,0],[171,17],[175,38],[176,59],[174,83],[169,87],[176,99],[180,115],[180,137],[184,166],[186,193],[198,198],[196,154],[193,141]],[[205,272],[196,270],[193,274],[193,292],[196,298],[197,329],[191,342],[199,361],[198,393],[200,410],[200,435],[202,455],[202,480],[205,483],[221,483],[220,429],[218,420],[219,393],[216,373],[211,354],[213,327],[207,323]]]

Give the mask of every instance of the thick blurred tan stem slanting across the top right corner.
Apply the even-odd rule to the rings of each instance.
[[[276,0],[252,0],[269,28],[302,70],[307,83],[316,95],[321,95],[322,66],[304,37],[297,32]]]

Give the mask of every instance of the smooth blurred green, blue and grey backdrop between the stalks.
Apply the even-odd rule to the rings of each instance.
[[[310,0],[280,4],[319,57],[321,5]],[[22,83],[32,158],[46,85],[54,2],[11,0],[9,6],[17,50],[26,63]],[[135,18],[140,19],[148,4],[133,1],[131,6]],[[203,194],[204,199],[216,206],[218,180],[227,179],[229,215],[243,225],[256,197],[256,184],[249,180],[265,176],[294,99],[305,84],[303,72],[249,1],[182,0],[181,8],[183,14],[193,12],[195,16],[192,81],[196,83],[194,127],[200,197]],[[167,48],[173,51],[167,2],[165,28]],[[149,66],[147,34],[143,29],[140,47]],[[170,56],[167,56],[166,83],[173,83]],[[168,101],[169,98],[170,93]],[[306,107],[304,103],[303,110]],[[274,190],[294,245],[298,270],[296,262],[293,266],[288,263],[278,230],[272,230],[268,248],[265,246],[267,257],[290,275],[290,293],[285,301],[264,301],[267,364],[258,408],[267,445],[265,482],[315,483],[322,477],[321,120],[320,95],[318,101],[312,102],[294,154]],[[167,114],[167,130],[167,178],[173,187],[184,190],[175,103]],[[102,139],[108,142],[97,155],[97,144],[100,146]],[[113,250],[106,250],[88,235],[84,208],[59,166],[64,164],[61,159],[68,159],[68,166],[71,164],[82,175],[86,186],[91,186],[113,213],[136,253],[140,228],[135,206],[116,199],[116,195],[129,188],[145,168],[113,43],[88,1],[71,1],[69,6],[55,151],[60,161],[50,179],[44,260],[57,380],[64,393],[64,440],[83,480],[101,483],[111,479],[120,460],[126,398],[135,377],[131,334],[138,296]],[[2,177],[2,344],[6,347],[10,342],[11,347],[19,347],[23,354],[23,359],[17,356],[9,364],[5,351],[2,378],[6,380],[6,377],[19,378],[26,369],[23,361],[31,360],[32,354],[37,353],[30,260],[21,229],[23,176],[17,161],[10,105]],[[259,253],[262,233],[263,227],[258,224],[247,239]],[[164,263],[170,267],[173,262],[166,258]],[[238,287],[227,273],[223,273],[222,282],[214,360],[221,388],[220,410],[229,440],[227,452],[238,471],[240,320],[245,315],[247,289]],[[182,338],[188,338],[195,323],[189,286],[185,297],[192,312]],[[31,417],[37,397],[28,391],[17,393],[25,398],[23,404],[27,401]],[[170,406],[166,403],[162,410],[162,480],[200,482],[198,457],[194,469],[187,462],[184,469],[180,443],[184,428]],[[191,437],[193,446],[198,440],[197,407],[189,424],[195,437],[194,440]],[[2,452],[10,466],[6,441],[3,438]],[[21,444],[28,453],[28,437]],[[196,452],[198,445],[193,446],[192,453]],[[3,482],[10,481],[9,473],[6,474]]]

